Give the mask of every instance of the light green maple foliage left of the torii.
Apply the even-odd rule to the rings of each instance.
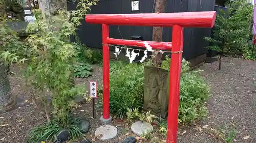
[[[58,120],[65,119],[75,105],[74,97],[82,94],[81,89],[74,87],[74,71],[80,70],[77,70],[80,65],[74,66],[78,59],[77,44],[70,43],[69,38],[75,35],[76,27],[80,25],[79,19],[96,2],[81,0],[76,11],[58,11],[57,15],[50,17],[51,20],[43,19],[38,10],[35,10],[33,13],[37,19],[27,27],[27,32],[37,31],[27,38],[30,45],[27,82],[41,93],[40,99],[46,105],[45,95],[49,92],[52,96],[53,114]],[[79,76],[87,76],[84,70],[82,67]]]

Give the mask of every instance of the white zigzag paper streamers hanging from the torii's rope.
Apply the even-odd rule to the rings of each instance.
[[[148,52],[148,51],[154,52],[154,50],[153,50],[152,47],[148,44],[148,42],[144,41],[143,44],[144,44],[144,46],[146,47],[146,50],[144,50],[144,56],[141,58],[140,63],[142,63],[142,62],[145,61],[145,59],[147,58],[147,52]],[[120,48],[118,48],[117,46],[115,46],[115,53],[114,53],[114,54],[116,55],[116,58],[117,58],[117,55],[120,54],[122,48],[125,48],[125,47],[120,47]],[[160,52],[163,53],[162,50],[160,50]],[[133,49],[132,52],[131,52],[131,51],[129,51],[129,48],[126,48],[126,54],[125,54],[125,56],[126,56],[127,58],[129,58],[130,63],[133,63],[133,61],[135,60],[136,56],[139,56],[139,54],[140,54],[140,50],[139,50],[138,53],[136,53],[136,52],[134,52],[134,49]]]

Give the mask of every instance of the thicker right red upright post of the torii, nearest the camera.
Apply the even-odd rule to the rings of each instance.
[[[168,104],[168,124],[167,143],[177,142],[177,126],[180,95],[180,72],[181,58],[183,50],[183,27],[173,26],[173,48],[170,62],[169,74],[169,104]]]

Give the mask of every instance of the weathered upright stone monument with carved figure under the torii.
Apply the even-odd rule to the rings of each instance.
[[[144,67],[144,110],[152,110],[162,118],[168,111],[169,71],[158,67]]]

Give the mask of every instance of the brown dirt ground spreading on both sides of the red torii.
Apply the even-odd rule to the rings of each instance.
[[[211,96],[207,102],[209,111],[206,120],[178,129],[178,142],[220,143],[225,142],[227,135],[234,131],[232,142],[256,142],[256,61],[223,58],[222,69],[218,70],[218,62],[204,64],[202,75],[209,83]],[[45,121],[34,105],[27,102],[29,92],[24,89],[20,67],[11,68],[15,75],[10,75],[13,94],[17,94],[19,107],[0,115],[0,142],[25,143],[30,129]],[[77,79],[77,84],[88,85],[88,81],[102,82],[102,69],[95,66],[93,76]],[[114,119],[112,124],[117,127],[118,135],[108,141],[99,141],[94,131],[100,126],[102,115],[96,110],[96,118],[92,119],[91,103],[82,104],[75,113],[89,120],[90,130],[87,137],[95,142],[118,143],[127,135],[132,135],[127,123]],[[157,128],[154,126],[155,131]],[[150,142],[142,140],[143,142]]]

